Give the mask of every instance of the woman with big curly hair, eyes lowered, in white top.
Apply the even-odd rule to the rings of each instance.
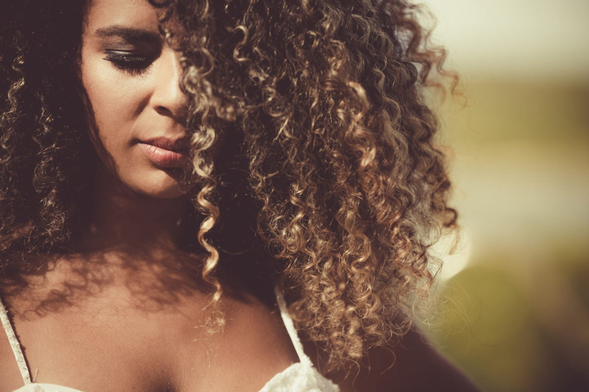
[[[160,3],[4,14],[0,392],[473,390],[409,331],[455,221],[412,6]]]

